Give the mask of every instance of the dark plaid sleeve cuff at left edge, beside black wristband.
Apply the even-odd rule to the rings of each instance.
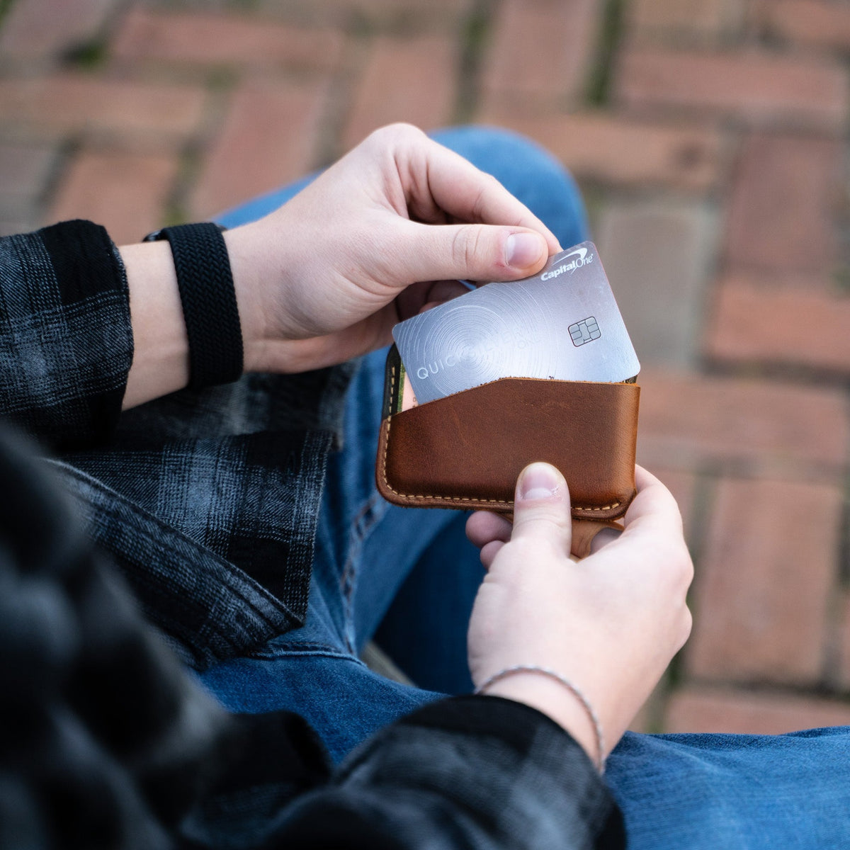
[[[105,229],[0,239],[0,416],[54,449],[103,443],[132,362],[127,275]]]

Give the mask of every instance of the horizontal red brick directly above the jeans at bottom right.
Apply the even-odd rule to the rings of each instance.
[[[796,694],[689,687],[668,703],[665,732],[777,735],[850,724],[850,706]]]

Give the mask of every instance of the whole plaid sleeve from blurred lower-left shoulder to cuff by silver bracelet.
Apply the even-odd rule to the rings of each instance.
[[[335,774],[302,718],[227,716],[5,431],[0,481],[0,850],[624,846],[581,748],[508,700],[427,706]]]

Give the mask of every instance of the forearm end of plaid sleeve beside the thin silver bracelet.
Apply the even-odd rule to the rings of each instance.
[[[587,754],[511,700],[456,697],[382,730],[289,810],[286,847],[626,847]]]

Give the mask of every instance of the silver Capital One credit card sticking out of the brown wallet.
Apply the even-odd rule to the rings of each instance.
[[[640,364],[596,246],[488,283],[393,328],[420,404],[501,377],[626,381]]]

